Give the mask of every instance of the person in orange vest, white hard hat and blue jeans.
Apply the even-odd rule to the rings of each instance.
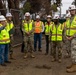
[[[43,22],[40,21],[40,16],[36,16],[36,21],[34,22],[34,52],[37,51],[37,42],[38,42],[38,51],[41,50],[41,40],[42,40],[42,32],[44,31]]]

